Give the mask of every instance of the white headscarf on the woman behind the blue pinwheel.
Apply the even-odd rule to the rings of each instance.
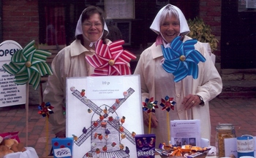
[[[187,33],[189,33],[189,31],[190,31],[189,25],[187,25],[187,20],[186,20],[185,16],[183,15],[183,13],[181,12],[181,9],[179,9],[178,7],[171,5],[171,4],[167,4],[165,7],[167,7],[167,6],[172,6],[177,10],[179,21],[180,21],[180,33],[182,33],[182,35],[187,35]],[[159,12],[157,13],[157,16],[154,18],[154,21],[150,26],[151,30],[157,34],[160,33],[160,17],[162,15],[162,11],[165,9],[165,7],[162,7],[162,9],[159,10]]]

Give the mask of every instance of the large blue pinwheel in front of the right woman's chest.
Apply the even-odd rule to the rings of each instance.
[[[197,79],[197,64],[200,61],[206,61],[206,58],[195,50],[196,39],[189,39],[183,43],[180,38],[180,36],[177,36],[173,39],[170,44],[171,48],[162,46],[162,53],[165,58],[162,67],[165,71],[174,75],[174,82],[179,82],[188,75],[192,75],[193,79]]]

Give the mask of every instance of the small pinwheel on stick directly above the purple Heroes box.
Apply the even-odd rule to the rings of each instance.
[[[146,98],[145,102],[143,104],[143,111],[147,111],[149,114],[149,120],[148,120],[148,134],[151,133],[151,113],[156,112],[155,108],[158,108],[157,106],[157,100],[154,100],[154,98]]]

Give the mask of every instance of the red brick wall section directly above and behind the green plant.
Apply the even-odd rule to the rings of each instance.
[[[211,33],[219,40],[215,55],[220,55],[221,4],[222,0],[200,0],[200,17],[211,26]]]

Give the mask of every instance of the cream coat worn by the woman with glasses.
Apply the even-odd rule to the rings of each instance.
[[[110,44],[110,41],[106,40]],[[43,94],[44,102],[50,102],[50,105],[53,106],[54,114],[49,116],[53,133],[58,133],[66,128],[63,109],[66,102],[66,78],[90,76],[94,73],[94,67],[86,61],[86,55],[92,56],[94,52],[87,50],[80,44],[80,40],[76,39],[53,59],[51,64],[53,75],[48,76]]]

